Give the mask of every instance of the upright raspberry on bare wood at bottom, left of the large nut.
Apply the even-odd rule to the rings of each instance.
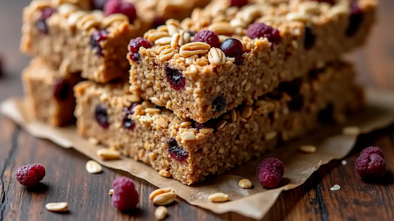
[[[112,189],[112,205],[118,210],[130,210],[137,206],[139,196],[133,180],[119,177],[113,180]]]

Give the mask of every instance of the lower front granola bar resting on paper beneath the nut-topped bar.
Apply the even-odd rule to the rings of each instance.
[[[128,84],[90,81],[74,87],[78,133],[124,155],[167,170],[184,184],[223,173],[299,137],[320,123],[343,121],[363,105],[350,64],[335,63],[309,77],[247,99],[206,123],[178,118],[128,92]]]

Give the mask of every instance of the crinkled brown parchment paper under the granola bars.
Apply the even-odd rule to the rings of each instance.
[[[357,125],[362,129],[362,133],[369,133],[374,129],[386,127],[394,121],[394,92],[368,90],[367,100],[368,107],[366,110],[351,117],[348,120],[348,125]],[[161,177],[150,166],[130,158],[101,160],[96,155],[96,151],[100,147],[94,146],[78,136],[74,126],[55,128],[44,123],[29,121],[28,111],[24,108],[23,99],[8,99],[2,102],[0,110],[35,137],[52,140],[65,148],[73,147],[108,168],[128,171],[159,188],[171,186],[179,197],[192,205],[201,206],[215,213],[232,211],[255,219],[264,217],[283,190],[289,190],[303,184],[320,165],[333,159],[345,157],[351,151],[357,139],[357,136],[341,134],[344,125],[329,127],[319,133],[310,134],[306,138],[292,141],[290,144],[281,146],[264,155],[263,158],[277,157],[284,163],[285,174],[276,189],[267,190],[256,179],[255,168],[263,158],[248,162],[217,177],[208,178],[205,182],[186,186],[177,180]],[[315,145],[317,151],[313,154],[299,153],[297,151],[299,145]],[[238,182],[243,178],[251,180],[253,188],[240,188]],[[216,192],[229,194],[230,201],[226,203],[211,203],[208,201],[208,196]]]

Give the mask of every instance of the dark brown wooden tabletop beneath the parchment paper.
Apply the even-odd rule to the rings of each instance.
[[[22,96],[20,71],[29,57],[19,53],[22,8],[28,0],[0,1],[0,53],[6,60],[0,78],[0,101]],[[348,56],[357,63],[362,83],[394,90],[394,1],[380,0],[379,24],[368,46]],[[264,220],[394,220],[394,127],[359,138],[345,159],[331,161],[316,171],[305,184],[281,194]],[[364,183],[355,174],[354,164],[363,147],[383,149],[389,172],[383,182]],[[104,168],[99,175],[85,171],[89,160],[73,149],[63,149],[39,140],[0,115],[0,220],[154,220],[156,206],[149,193],[156,189],[145,180],[122,171]],[[43,184],[26,189],[15,180],[15,169],[23,164],[46,167]],[[117,212],[110,204],[108,190],[113,179],[128,176],[136,181],[141,195],[138,209],[130,214]],[[329,191],[334,184],[340,191]],[[49,202],[69,202],[69,212],[46,211]],[[213,214],[187,204],[182,199],[168,207],[167,220],[250,220],[235,213]]]

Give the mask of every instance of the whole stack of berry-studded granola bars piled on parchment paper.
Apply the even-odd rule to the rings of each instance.
[[[146,8],[132,25],[127,13],[42,2],[26,8],[22,39],[39,57],[24,72],[37,120],[70,123],[76,98],[79,134],[185,184],[364,105],[341,56],[368,39],[376,0],[212,0],[182,21],[205,3],[168,15],[159,5],[180,1],[135,1]],[[175,19],[143,28],[158,15]]]

